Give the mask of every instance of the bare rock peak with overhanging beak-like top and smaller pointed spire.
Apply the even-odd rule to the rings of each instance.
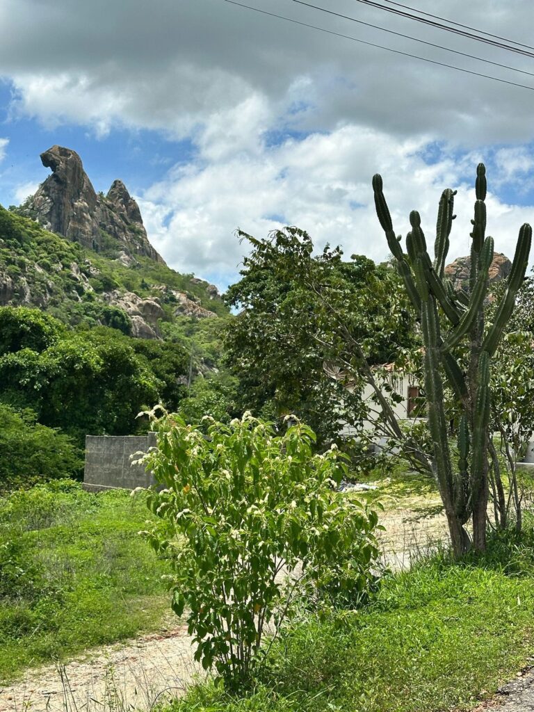
[[[24,204],[26,214],[86,248],[100,251],[110,235],[128,255],[163,262],[148,241],[139,206],[124,183],[115,180],[106,196],[96,193],[80,157],[70,148],[53,146],[41,153],[41,161],[52,174]]]

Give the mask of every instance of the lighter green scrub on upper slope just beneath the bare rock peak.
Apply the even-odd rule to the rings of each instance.
[[[127,266],[117,259],[119,253],[120,244],[111,236],[108,248],[96,253],[0,206],[0,273],[13,283],[14,303],[46,308],[70,325],[114,326],[103,292],[157,296],[170,321],[177,305],[169,290],[176,290],[216,314],[228,313],[220,298],[206,292],[206,282],[192,281],[193,275],[179,274],[148,257],[138,256]],[[84,278],[93,291],[86,290]]]

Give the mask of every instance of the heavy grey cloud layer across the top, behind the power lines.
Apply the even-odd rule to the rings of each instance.
[[[286,15],[401,52],[499,78],[528,77],[467,57],[431,49],[286,0],[249,0]],[[452,49],[529,71],[528,58],[486,48],[451,33],[422,28],[377,9],[337,0],[341,13]],[[425,10],[442,14],[439,0]],[[451,19],[521,41],[530,23],[528,0],[495,4],[450,0]],[[405,137],[436,132],[466,145],[533,137],[532,93],[445,67],[425,64],[338,36],[257,14],[221,0],[4,0],[0,74],[14,83],[13,110],[47,127],[76,122],[105,135],[115,125],[183,136],[214,127],[214,112],[229,115],[254,93],[266,115],[293,113],[306,131],[338,122],[372,125]],[[61,28],[61,33],[60,33]],[[50,38],[57,38],[51,41]],[[526,41],[523,40],[523,41]],[[68,69],[66,69],[68,68]],[[250,117],[235,117],[239,122]],[[204,134],[207,138],[207,135]]]

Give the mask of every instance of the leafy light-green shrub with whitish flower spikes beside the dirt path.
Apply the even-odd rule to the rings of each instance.
[[[187,609],[204,668],[248,682],[306,585],[352,607],[367,599],[377,515],[333,489],[346,469],[336,449],[313,455],[307,426],[276,435],[250,414],[209,419],[205,433],[165,415],[156,429],[145,463],[163,486],[148,501],[160,521],[146,535],[172,562],[172,607]]]

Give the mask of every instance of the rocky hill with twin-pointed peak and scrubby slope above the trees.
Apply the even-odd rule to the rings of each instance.
[[[104,197],[74,151],[54,146],[41,160],[53,172],[36,194],[19,208],[0,207],[0,305],[147,339],[182,317],[228,313],[214,285],[164,263],[122,182]]]

